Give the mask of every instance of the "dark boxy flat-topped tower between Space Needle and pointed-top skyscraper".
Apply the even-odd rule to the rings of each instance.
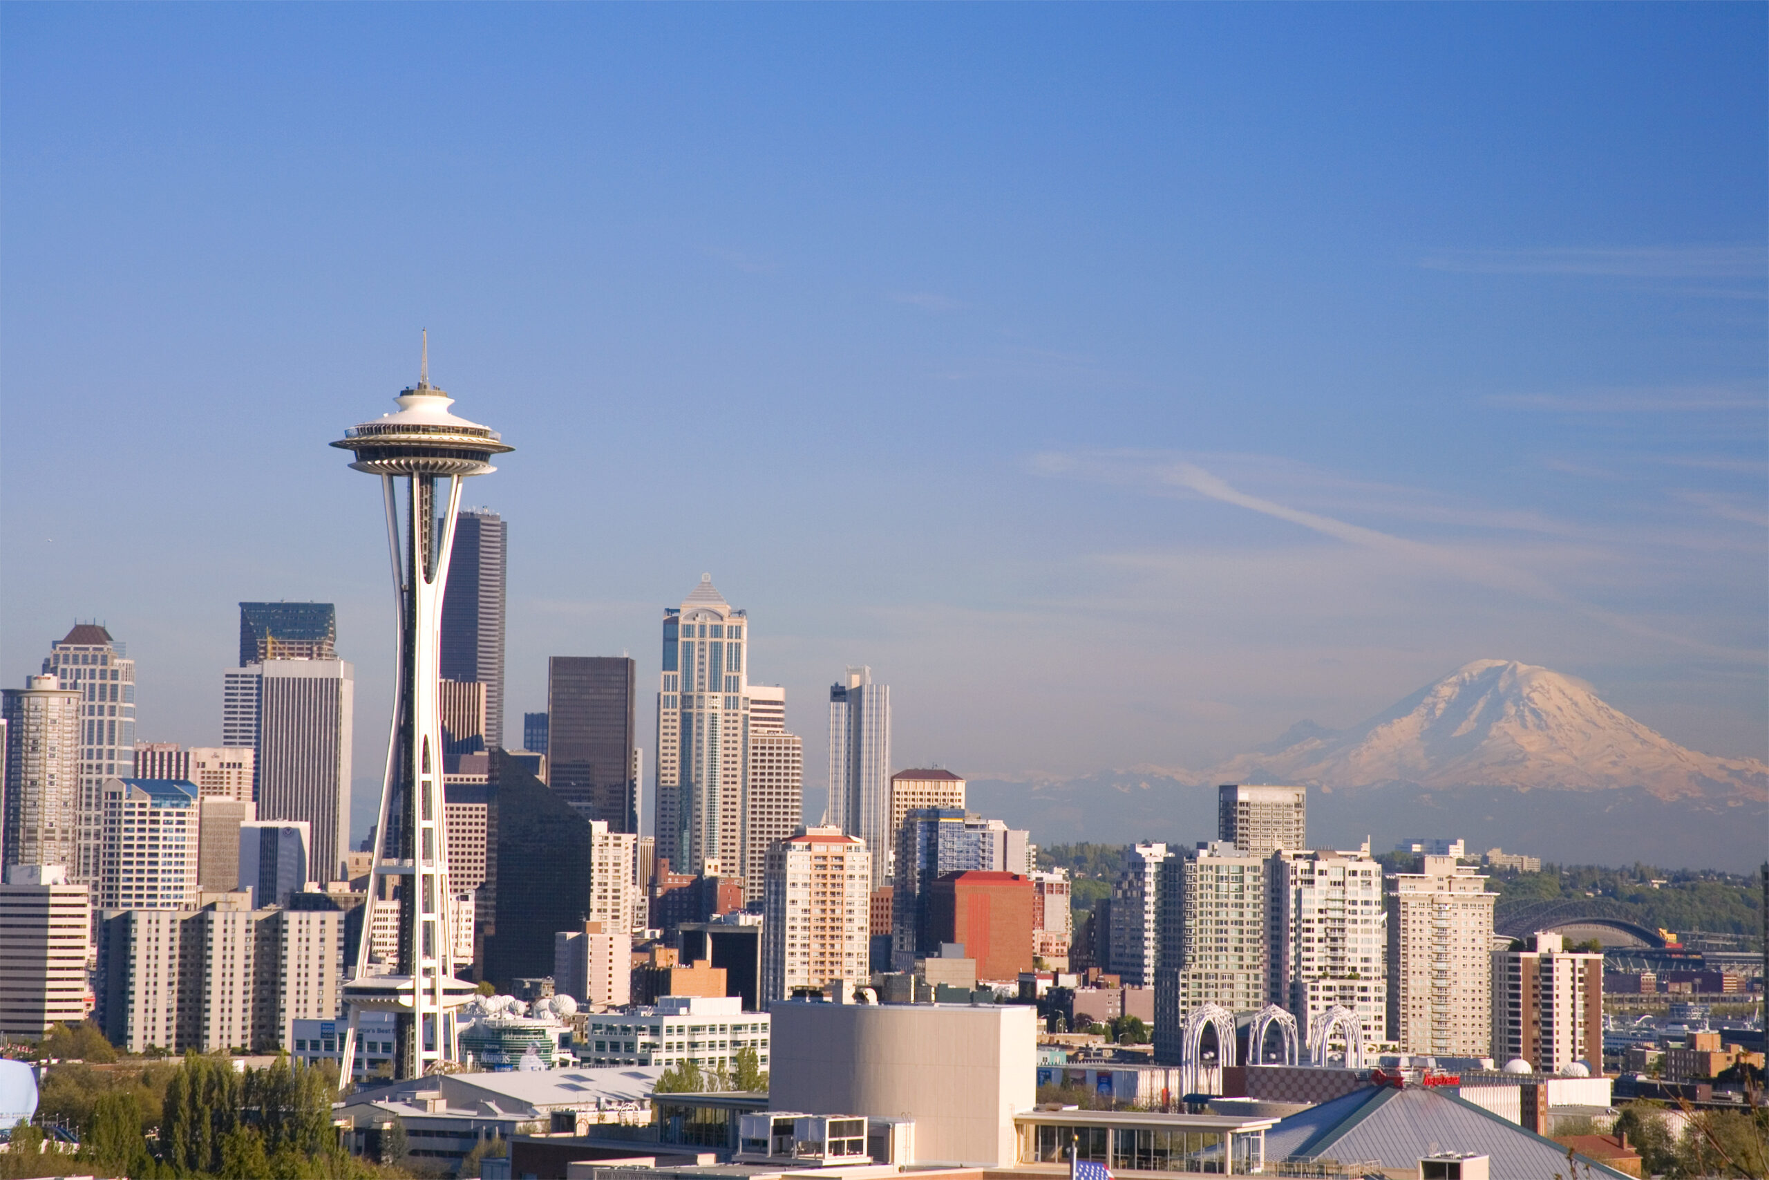
[[[639,831],[637,669],[626,656],[547,660],[547,785],[584,819],[630,833]]]

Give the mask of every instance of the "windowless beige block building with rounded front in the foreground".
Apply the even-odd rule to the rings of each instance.
[[[1030,1005],[777,1003],[770,1106],[915,1120],[916,1162],[1007,1168],[1037,1095]]]

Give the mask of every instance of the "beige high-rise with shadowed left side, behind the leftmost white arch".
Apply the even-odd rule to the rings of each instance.
[[[1206,1003],[1265,1007],[1267,858],[1212,840],[1159,865],[1160,948],[1155,971],[1155,1058],[1180,1063],[1185,1014]],[[1113,916],[1118,904],[1113,899]],[[1116,931],[1113,932],[1116,946]],[[1130,980],[1125,980],[1127,984]]]

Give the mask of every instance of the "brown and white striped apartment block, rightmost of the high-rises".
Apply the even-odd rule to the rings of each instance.
[[[1537,932],[1493,952],[1493,1060],[1523,1058],[1539,1074],[1581,1061],[1603,1072],[1603,952],[1566,950]]]

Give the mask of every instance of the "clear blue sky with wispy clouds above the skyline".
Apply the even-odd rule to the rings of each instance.
[[[823,780],[1205,766],[1481,656],[1769,755],[1762,5],[7,5],[0,674],[214,741],[391,635],[417,333],[518,449],[509,706],[711,571]],[[649,701],[640,713],[647,715]],[[655,736],[642,724],[649,747]]]

